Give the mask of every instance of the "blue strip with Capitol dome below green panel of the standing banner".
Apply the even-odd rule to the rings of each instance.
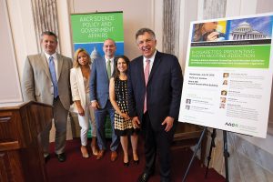
[[[104,43],[85,43],[85,44],[74,44],[74,50],[78,48],[86,49],[87,53],[90,55],[91,52],[94,50],[96,46],[96,51],[99,53],[100,56],[104,56],[103,52],[103,45]],[[124,43],[116,43],[116,56],[124,55]]]

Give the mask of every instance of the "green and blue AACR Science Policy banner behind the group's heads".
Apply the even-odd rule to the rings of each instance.
[[[124,54],[123,12],[72,14],[71,29],[74,50],[85,48],[93,60],[103,56],[106,38],[116,42],[116,56]]]

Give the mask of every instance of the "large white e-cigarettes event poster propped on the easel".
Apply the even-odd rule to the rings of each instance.
[[[272,14],[190,24],[178,120],[266,137]]]

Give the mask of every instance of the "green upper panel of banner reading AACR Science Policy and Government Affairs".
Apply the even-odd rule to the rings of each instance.
[[[71,26],[74,43],[124,41],[122,12],[71,15]]]

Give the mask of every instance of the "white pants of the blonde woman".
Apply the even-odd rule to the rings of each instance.
[[[89,94],[86,94],[86,106],[83,106],[85,109],[85,116],[77,115],[79,126],[81,126],[81,144],[82,146],[87,145],[87,132],[89,129],[89,122],[91,124],[91,134],[96,136],[96,122],[94,116],[93,108],[89,107],[90,99]]]

